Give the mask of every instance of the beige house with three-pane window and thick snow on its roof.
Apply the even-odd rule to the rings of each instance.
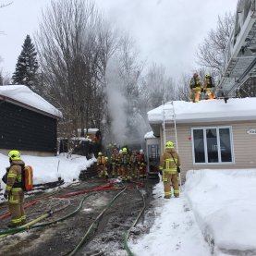
[[[174,101],[148,112],[160,153],[176,143],[183,177],[189,169],[256,167],[256,98]]]

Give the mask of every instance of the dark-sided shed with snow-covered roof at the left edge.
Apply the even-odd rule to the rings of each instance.
[[[0,152],[55,155],[60,117],[61,112],[28,87],[0,86]]]

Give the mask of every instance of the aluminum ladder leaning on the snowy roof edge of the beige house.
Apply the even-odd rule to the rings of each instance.
[[[175,105],[174,102],[170,102],[171,108],[165,108],[166,104],[163,104],[163,135],[164,135],[164,145],[166,144],[166,138],[168,140],[174,141],[176,145],[176,150],[178,153],[178,146],[177,146],[177,125],[176,125],[176,113],[175,113]],[[173,128],[165,128],[165,117],[166,117],[166,111],[168,111],[168,124],[171,125]],[[170,113],[170,114],[169,114]],[[166,136],[166,133],[170,134]],[[179,188],[180,191],[182,190],[181,187],[181,177],[180,173],[178,174],[178,179],[179,179]]]

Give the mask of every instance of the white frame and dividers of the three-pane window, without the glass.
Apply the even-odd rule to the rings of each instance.
[[[215,128],[216,129],[216,140],[218,146],[218,162],[209,163],[207,156],[207,138],[206,138],[206,130]],[[229,139],[230,139],[230,151],[231,151],[231,162],[221,162],[221,148],[220,148],[220,133],[219,129],[228,128],[229,129]],[[200,129],[203,134],[203,146],[204,146],[204,163],[196,163],[195,162],[195,148],[194,148],[194,130]],[[233,130],[231,126],[211,126],[211,127],[198,127],[191,128],[191,140],[192,140],[192,157],[193,157],[193,165],[234,165],[235,164],[235,153],[234,153],[234,143],[233,143]],[[207,162],[206,162],[207,161]]]

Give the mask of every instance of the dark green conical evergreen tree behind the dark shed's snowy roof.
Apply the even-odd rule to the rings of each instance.
[[[34,44],[31,43],[30,36],[27,35],[22,45],[21,54],[18,56],[18,62],[12,77],[13,84],[24,84],[30,89],[33,87],[38,69],[36,55]]]

